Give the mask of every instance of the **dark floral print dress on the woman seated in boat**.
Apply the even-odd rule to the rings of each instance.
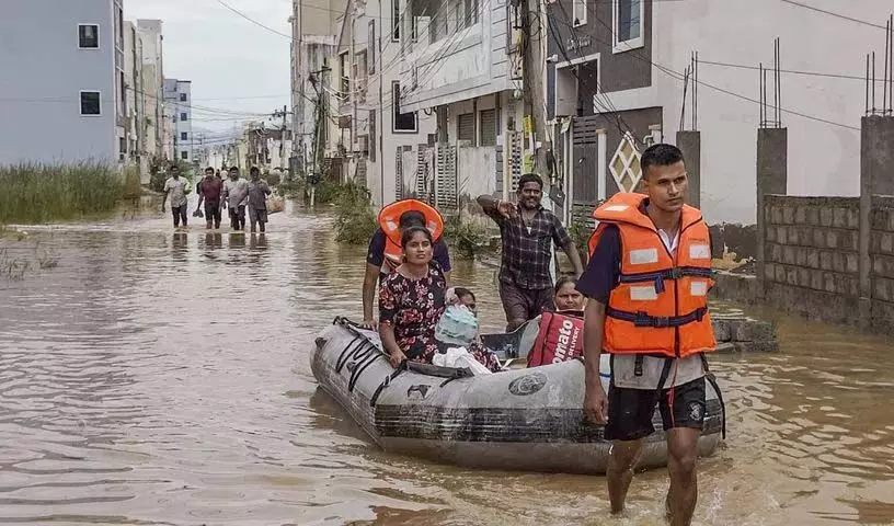
[[[379,322],[394,328],[398,346],[413,362],[432,363],[444,344],[435,340],[435,325],[444,315],[447,279],[435,265],[421,279],[392,272],[379,287]],[[482,345],[469,347],[475,359],[491,370],[500,370],[500,361]]]

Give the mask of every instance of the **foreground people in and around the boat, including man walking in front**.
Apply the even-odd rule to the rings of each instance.
[[[538,175],[520,178],[516,203],[488,195],[478,203],[501,231],[498,289],[506,331],[539,319],[535,345],[547,345],[555,325],[547,320],[564,317],[552,341],[577,345],[534,364],[530,356],[542,357],[545,352],[531,350],[528,366],[573,357],[584,362],[583,412],[605,425],[603,436],[612,442],[607,469],[612,513],[624,507],[643,439],[655,431],[657,405],[671,472],[667,516],[672,525],[683,526],[690,524],[698,496],[704,355],[717,345],[707,302],[713,286],[711,242],[701,213],[685,203],[688,179],[680,150],[653,145],[642,152],[640,167],[642,193],[618,193],[594,210],[597,228],[589,239],[586,272],[559,218],[541,205],[543,182]],[[404,361],[432,363],[445,352],[449,343],[439,341],[439,327],[451,317],[455,325],[470,320],[461,311],[451,315],[451,307],[475,312],[473,293],[448,288],[450,259],[443,228],[437,210],[405,199],[382,209],[369,242],[363,324],[378,327],[396,367]],[[573,267],[555,285],[550,271],[553,244]],[[377,282],[378,322],[373,316]],[[581,329],[580,338],[568,338],[570,327]],[[489,369],[501,369],[480,340],[467,346]],[[611,357],[608,389],[600,378],[603,353]]]

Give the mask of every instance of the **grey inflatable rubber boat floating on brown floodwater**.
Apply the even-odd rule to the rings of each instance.
[[[502,344],[496,351],[504,358],[520,357],[524,348],[511,348],[511,342],[525,340],[524,329],[483,340]],[[608,389],[608,361],[600,365]],[[386,451],[473,468],[605,473],[611,444],[603,426],[584,419],[581,359],[482,376],[417,363],[394,369],[376,332],[339,318],[317,338],[311,369]],[[713,381],[706,409],[701,456],[713,453],[724,428]],[[653,422],[656,432],[645,439],[640,468],[667,464],[657,409]]]

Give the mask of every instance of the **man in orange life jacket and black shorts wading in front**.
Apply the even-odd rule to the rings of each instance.
[[[642,441],[661,410],[674,526],[689,525],[698,499],[696,446],[704,418],[703,353],[715,342],[708,316],[711,244],[701,213],[684,204],[686,167],[674,146],[640,161],[646,195],[622,193],[596,209],[592,258],[577,285],[584,315],[584,412],[614,441],[607,469],[612,513],[623,510]],[[608,396],[599,355],[611,354]]]

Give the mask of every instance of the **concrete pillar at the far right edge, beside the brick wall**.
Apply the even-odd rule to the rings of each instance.
[[[872,319],[872,196],[894,195],[894,117],[860,122],[860,322]]]

